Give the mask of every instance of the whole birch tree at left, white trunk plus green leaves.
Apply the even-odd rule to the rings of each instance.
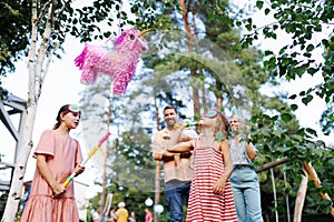
[[[90,20],[85,20],[85,18],[81,17],[84,12],[80,13],[80,10],[75,11],[71,8],[71,0],[31,0],[27,2],[24,1],[24,6],[31,7],[27,121],[24,123],[23,134],[20,138],[22,142],[19,145],[19,155],[14,168],[12,184],[1,220],[3,222],[14,221],[18,212],[27,162],[31,149],[35,145],[32,142],[32,132],[37,105],[49,65],[51,64],[53,56],[57,56],[57,49],[59,49],[65,41],[66,33],[79,37],[82,41],[90,41],[91,34],[87,34],[87,30],[98,29],[94,22],[99,22],[102,19],[109,19],[109,22],[112,22],[112,18],[104,17],[100,19],[96,11],[88,11],[87,13],[91,13],[91,18]],[[109,4],[106,3],[102,8],[98,6],[97,9],[100,10],[99,12],[106,12],[111,10],[111,6],[117,6],[117,3],[109,1]],[[24,19],[27,20],[27,18],[22,20]],[[82,29],[86,31],[80,31],[80,29],[76,27],[78,21],[80,21],[81,28],[84,27]],[[86,26],[84,26],[85,22],[87,23]],[[124,20],[124,22],[126,22],[126,20]],[[23,26],[23,23],[26,23],[26,21],[21,22],[21,26]],[[107,37],[108,36],[110,36],[110,33],[107,33]]]

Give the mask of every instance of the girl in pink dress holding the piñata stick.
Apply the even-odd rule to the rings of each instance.
[[[80,144],[69,137],[80,121],[80,110],[75,104],[62,105],[52,130],[46,130],[36,148],[31,192],[21,218],[22,222],[76,222],[79,221],[73,183],[62,183],[75,171],[84,172],[80,165]]]

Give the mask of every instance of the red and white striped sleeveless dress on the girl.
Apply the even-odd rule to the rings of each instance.
[[[224,194],[213,185],[223,175],[223,153],[213,147],[195,148],[195,169],[188,201],[187,222],[238,221],[229,180]]]

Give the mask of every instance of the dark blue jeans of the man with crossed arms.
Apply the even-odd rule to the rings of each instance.
[[[169,209],[169,221],[181,222],[183,221],[183,205],[188,204],[190,181],[184,182],[178,186],[170,186],[166,184],[166,195]]]

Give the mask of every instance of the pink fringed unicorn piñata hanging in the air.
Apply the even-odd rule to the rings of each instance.
[[[99,73],[107,74],[114,79],[114,93],[124,94],[136,72],[139,54],[148,51],[144,39],[147,32],[135,29],[125,31],[115,40],[115,50],[86,43],[75,60],[76,65],[82,70],[80,82],[94,83]]]

